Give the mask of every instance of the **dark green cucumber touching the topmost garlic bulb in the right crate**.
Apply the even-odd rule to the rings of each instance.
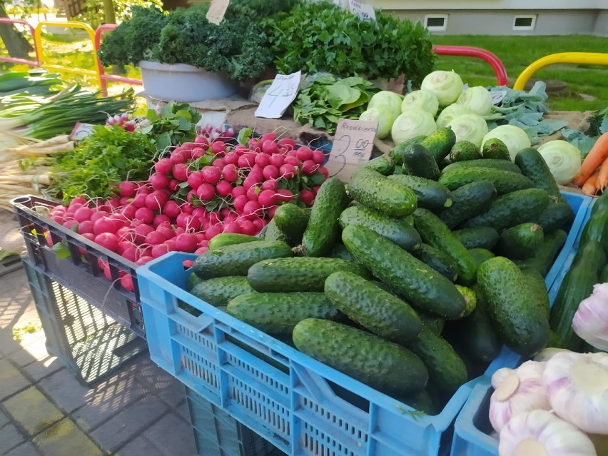
[[[593,285],[597,283],[597,273],[584,263],[572,265],[559,285],[557,297],[551,308],[549,324],[562,339],[564,348],[578,352],[583,340],[574,333],[572,319],[582,300],[589,298]]]

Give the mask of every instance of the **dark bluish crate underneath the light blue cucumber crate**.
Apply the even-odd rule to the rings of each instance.
[[[285,456],[268,440],[186,387],[198,456]]]

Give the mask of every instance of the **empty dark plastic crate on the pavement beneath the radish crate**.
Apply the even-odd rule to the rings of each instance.
[[[53,280],[23,258],[46,350],[59,358],[78,382],[90,386],[145,353],[148,345],[81,295]]]

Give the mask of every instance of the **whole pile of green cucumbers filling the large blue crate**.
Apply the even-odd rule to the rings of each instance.
[[[474,147],[440,128],[346,186],[329,178],[310,209],[280,206],[258,238],[216,236],[191,293],[437,412],[503,344],[529,357],[549,343],[544,275],[574,219],[534,148],[513,163],[504,144],[469,160]]]

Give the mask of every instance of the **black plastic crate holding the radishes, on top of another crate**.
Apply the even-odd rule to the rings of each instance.
[[[19,219],[28,258],[34,265],[136,335],[146,338],[135,263],[52,221],[49,211],[59,203],[26,195],[15,198],[11,204]],[[49,245],[45,232],[52,245],[62,245],[61,251],[66,254],[61,258]],[[108,263],[112,281],[103,274],[99,260]],[[121,286],[121,273],[131,275],[133,291]]]

